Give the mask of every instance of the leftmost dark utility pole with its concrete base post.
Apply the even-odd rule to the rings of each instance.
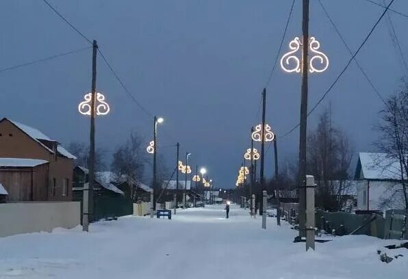
[[[92,43],[92,84],[90,103],[90,148],[89,148],[89,181],[88,189],[84,187],[84,198],[82,201],[82,230],[89,231],[89,222],[94,214],[94,177],[95,177],[95,97],[97,94],[97,51],[98,44]]]

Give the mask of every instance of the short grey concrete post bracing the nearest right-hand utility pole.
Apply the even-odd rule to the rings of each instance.
[[[315,213],[314,213],[314,176],[306,176],[306,251],[314,246],[314,227],[315,227]]]

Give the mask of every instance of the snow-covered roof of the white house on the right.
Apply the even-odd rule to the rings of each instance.
[[[357,179],[400,180],[400,165],[385,153],[359,153],[361,173]],[[358,169],[357,169],[358,171]]]

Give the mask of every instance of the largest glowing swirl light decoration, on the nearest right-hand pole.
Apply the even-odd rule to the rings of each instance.
[[[290,51],[281,58],[281,68],[285,72],[301,72],[301,60],[295,55],[301,49],[302,42],[296,37],[290,41]],[[318,51],[320,42],[314,37],[309,39],[309,50],[311,52],[309,59],[309,72],[324,72],[329,67],[329,57]],[[317,68],[316,68],[317,67]]]

